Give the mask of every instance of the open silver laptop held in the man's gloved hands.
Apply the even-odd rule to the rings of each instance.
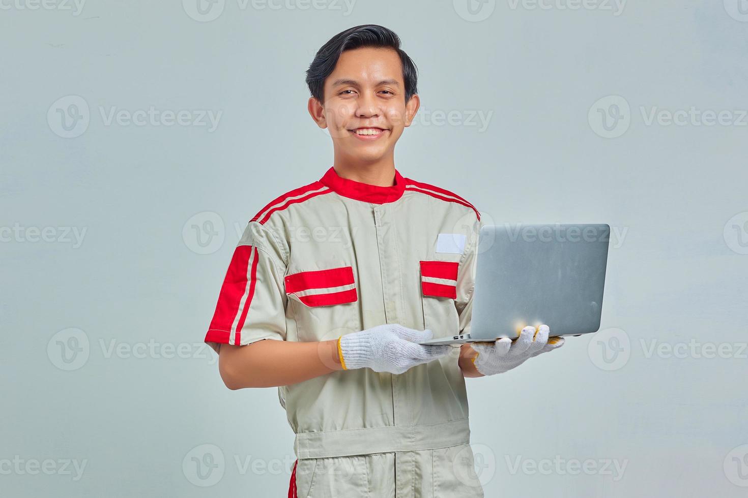
[[[484,225],[470,333],[421,344],[514,339],[542,323],[551,337],[597,332],[610,226]]]

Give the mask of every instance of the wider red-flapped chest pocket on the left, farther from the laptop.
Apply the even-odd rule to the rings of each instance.
[[[360,330],[352,267],[291,273],[285,284],[294,305],[298,340],[328,340]]]

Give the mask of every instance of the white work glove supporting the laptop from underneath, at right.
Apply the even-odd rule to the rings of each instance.
[[[495,342],[470,343],[470,346],[478,352],[478,355],[473,358],[473,364],[476,370],[484,376],[512,370],[533,356],[553,351],[564,345],[563,337],[551,337],[549,340],[548,334],[550,333],[551,329],[547,325],[539,326],[537,332],[535,327],[527,326],[522,329],[515,340],[501,337]]]

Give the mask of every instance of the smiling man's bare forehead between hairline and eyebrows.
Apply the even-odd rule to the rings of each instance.
[[[338,58],[333,72],[325,79],[325,88],[340,78],[352,79],[361,84],[393,79],[402,86],[402,63],[393,49],[363,47],[346,50]]]

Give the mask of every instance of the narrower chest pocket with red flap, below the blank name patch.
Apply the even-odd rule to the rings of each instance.
[[[434,337],[448,337],[459,333],[456,261],[420,261],[421,302],[423,328],[434,332]]]

